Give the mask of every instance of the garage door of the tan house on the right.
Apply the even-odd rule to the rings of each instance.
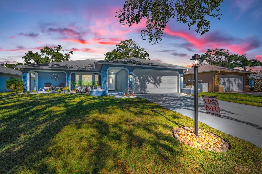
[[[243,76],[220,75],[220,85],[224,91],[243,91]]]

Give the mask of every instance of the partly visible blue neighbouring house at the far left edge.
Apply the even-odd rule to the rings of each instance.
[[[22,75],[21,71],[0,65],[0,92],[12,91],[6,88],[6,80],[10,80],[11,78],[20,78],[22,80]]]

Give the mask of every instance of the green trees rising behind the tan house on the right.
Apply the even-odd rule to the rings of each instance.
[[[210,65],[227,68],[243,68],[245,71],[248,67],[262,66],[259,60],[248,60],[245,54],[230,54],[229,50],[225,49],[208,49],[205,54],[201,55],[201,58]]]

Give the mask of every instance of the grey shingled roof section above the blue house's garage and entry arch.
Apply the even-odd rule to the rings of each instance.
[[[176,68],[176,69],[188,69],[184,66],[172,65],[167,63],[160,63],[153,60],[145,60],[139,59],[135,57],[124,58],[124,59],[115,59],[115,60],[105,60],[105,61],[97,61],[97,64],[122,64],[122,65],[143,65],[143,66],[159,66],[163,68]]]

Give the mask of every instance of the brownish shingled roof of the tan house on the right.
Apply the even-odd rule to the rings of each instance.
[[[209,72],[209,71],[226,71],[226,72],[242,72],[242,73],[249,73],[249,71],[244,71],[244,70],[238,70],[238,69],[233,69],[233,68],[226,68],[222,66],[216,66],[216,65],[201,65],[198,67],[198,73],[201,72]],[[194,67],[189,69],[184,75],[186,74],[194,74]]]

